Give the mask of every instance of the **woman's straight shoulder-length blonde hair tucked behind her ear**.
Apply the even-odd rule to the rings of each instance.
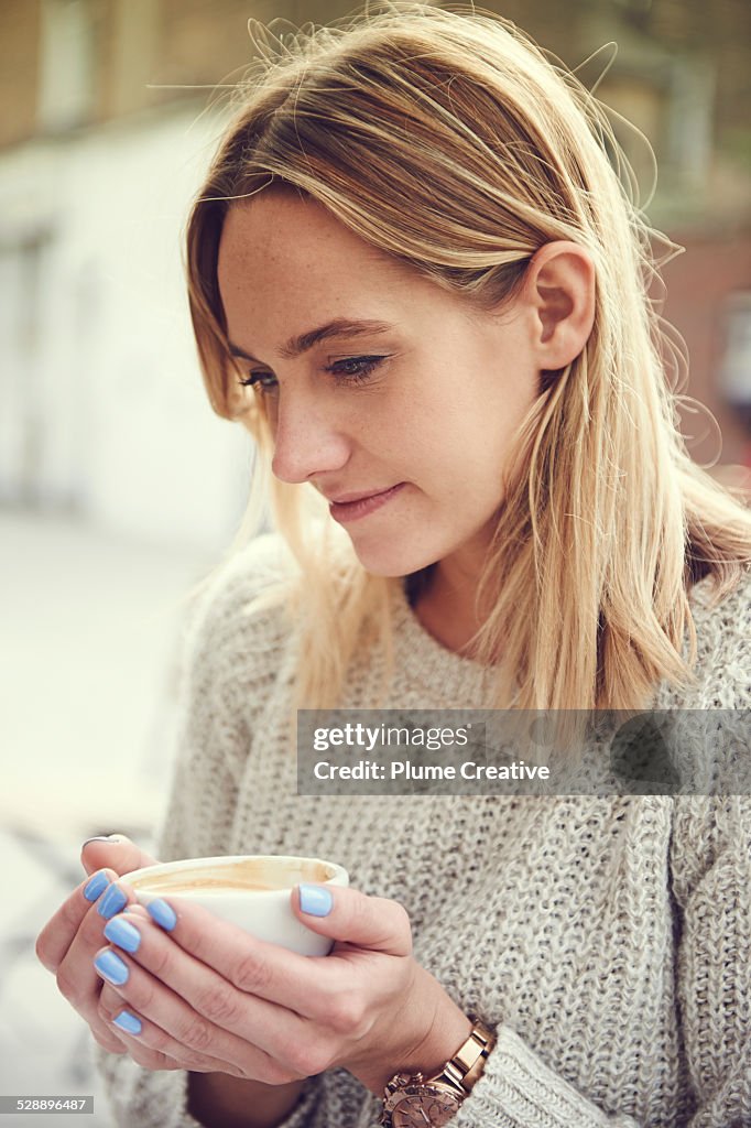
[[[594,327],[573,363],[544,373],[520,428],[472,656],[494,667],[488,705],[502,707],[638,708],[661,680],[690,682],[688,589],[710,573],[719,600],[740,581],[751,514],[679,433],[670,338],[648,298],[652,232],[602,107],[513,25],[463,7],[387,2],[286,43],[260,30],[257,42],[262,58],[191,215],[189,301],[211,404],[255,435],[256,497],[271,495],[304,575],[300,703],[336,704],[363,632],[388,647],[395,581],[335,545],[311,486],[271,481],[264,412],[240,399],[218,247],[228,209],[271,185],[312,197],[483,309],[515,296],[545,244],[586,248]]]

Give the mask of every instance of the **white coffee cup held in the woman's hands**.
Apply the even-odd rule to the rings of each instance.
[[[292,913],[290,891],[299,882],[348,885],[347,871],[316,857],[233,855],[165,862],[124,873],[122,880],[145,906],[157,898],[189,901],[301,955],[327,955],[333,941],[307,928]]]

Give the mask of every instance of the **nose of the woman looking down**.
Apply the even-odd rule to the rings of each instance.
[[[273,434],[272,472],[281,482],[308,482],[342,469],[350,458],[345,430],[312,397],[281,395]]]

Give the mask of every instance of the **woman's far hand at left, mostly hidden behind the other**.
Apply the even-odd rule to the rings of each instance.
[[[104,942],[107,916],[120,913],[129,900],[125,888],[113,883],[121,873],[152,865],[153,858],[124,835],[113,835],[85,843],[81,862],[88,876],[44,926],[36,954],[54,972],[61,993],[86,1019],[97,1042],[113,1054],[125,1054],[124,1039],[99,1014],[101,980],[92,960]]]

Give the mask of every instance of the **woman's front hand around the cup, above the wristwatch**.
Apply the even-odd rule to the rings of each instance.
[[[188,902],[152,902],[153,919],[129,906],[96,954],[100,1024],[118,1020],[149,1068],[270,1085],[344,1066],[380,1093],[397,1070],[439,1068],[470,1022],[414,960],[404,908],[354,889],[301,890],[293,911],[335,940],[328,957],[258,941]]]

